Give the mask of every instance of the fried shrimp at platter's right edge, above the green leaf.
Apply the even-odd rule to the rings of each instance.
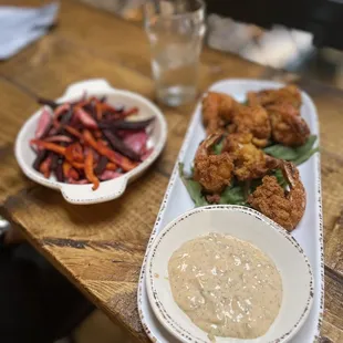
[[[277,104],[268,107],[273,141],[288,146],[303,145],[310,128],[300,116],[299,110],[290,104]]]

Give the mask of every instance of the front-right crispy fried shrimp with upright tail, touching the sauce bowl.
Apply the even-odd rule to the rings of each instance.
[[[288,231],[292,231],[304,214],[306,196],[297,167],[292,163],[283,163],[282,172],[290,190],[284,190],[274,176],[264,176],[262,185],[248,197],[248,202]]]

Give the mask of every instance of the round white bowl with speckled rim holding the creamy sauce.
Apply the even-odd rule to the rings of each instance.
[[[251,343],[287,342],[304,323],[312,304],[313,277],[303,250],[280,226],[263,215],[240,206],[196,208],[169,222],[156,237],[146,260],[147,294],[159,322],[184,343],[210,343],[174,301],[168,280],[168,261],[183,243],[210,232],[249,241],[276,263],[282,279],[280,312],[270,330]],[[218,343],[245,342],[216,337]]]

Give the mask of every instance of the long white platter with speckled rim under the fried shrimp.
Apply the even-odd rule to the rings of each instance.
[[[260,80],[224,80],[215,83],[210,90],[231,94],[238,101],[246,98],[249,91],[260,91],[263,89],[278,89],[283,86],[279,82]],[[302,93],[303,105],[301,115],[308,122],[311,133],[319,135],[319,124],[316,111],[310,96]],[[186,172],[190,167],[198,144],[205,138],[205,129],[201,124],[200,103],[195,110],[193,121],[188,128],[184,145],[178,155],[175,169],[163,200],[155,227],[153,229],[147,252],[157,233],[172,220],[185,211],[194,208],[194,202],[178,176],[177,165],[185,163]],[[301,179],[306,189],[306,210],[292,236],[300,243],[309,258],[313,270],[314,293],[313,304],[308,320],[291,339],[292,343],[311,343],[319,336],[324,301],[324,258],[323,258],[323,227],[322,227],[322,204],[321,204],[321,179],[320,179],[320,155],[313,155],[306,163],[300,166]],[[147,253],[146,252],[146,253]],[[145,285],[145,262],[142,267],[138,287],[138,310],[143,326],[154,342],[175,343],[176,340],[156,319],[146,292]]]

